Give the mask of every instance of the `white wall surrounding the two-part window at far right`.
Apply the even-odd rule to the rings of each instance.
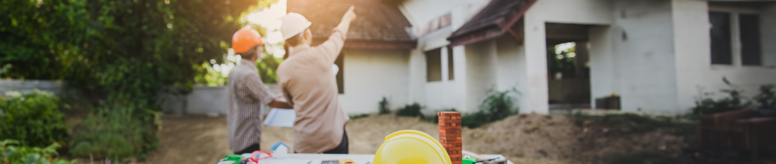
[[[770,67],[776,58],[776,11],[774,5],[760,11],[760,37],[762,39],[764,66],[712,65],[710,36],[708,33],[708,3],[703,1],[672,2],[674,7],[674,42],[677,67],[677,110],[688,111],[695,106],[698,87],[719,93],[729,88],[722,82],[726,77],[731,83],[745,90],[744,95],[757,94],[762,84],[776,84],[776,69]]]

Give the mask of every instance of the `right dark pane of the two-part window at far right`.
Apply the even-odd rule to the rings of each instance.
[[[760,21],[754,14],[739,14],[738,24],[741,37],[741,64],[760,65]]]

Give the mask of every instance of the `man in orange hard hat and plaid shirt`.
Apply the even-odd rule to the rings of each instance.
[[[232,50],[242,60],[229,73],[227,128],[229,149],[234,154],[259,150],[262,137],[262,108],[291,108],[281,95],[275,97],[258,76],[256,60],[262,58],[262,36],[255,29],[243,28],[232,36]]]

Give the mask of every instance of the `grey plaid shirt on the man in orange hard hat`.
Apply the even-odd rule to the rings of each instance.
[[[262,108],[274,101],[269,87],[258,77],[258,69],[251,60],[241,60],[229,73],[227,128],[229,149],[238,152],[262,138]]]

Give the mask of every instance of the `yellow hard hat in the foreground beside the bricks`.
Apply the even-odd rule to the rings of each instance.
[[[434,137],[416,130],[386,136],[375,153],[374,164],[452,164],[450,155]]]

